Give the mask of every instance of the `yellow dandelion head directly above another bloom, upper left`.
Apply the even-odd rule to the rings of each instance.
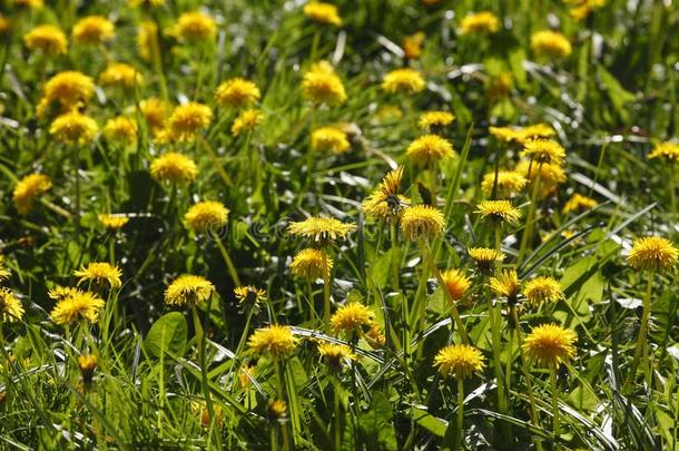
[[[42,116],[52,102],[59,102],[62,110],[76,108],[87,102],[94,94],[95,80],[90,77],[78,71],[59,72],[42,87],[38,114]]]

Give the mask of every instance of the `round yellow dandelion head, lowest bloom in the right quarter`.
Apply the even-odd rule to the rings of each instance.
[[[534,327],[523,342],[523,350],[541,366],[558,369],[575,356],[578,335],[557,324]]]

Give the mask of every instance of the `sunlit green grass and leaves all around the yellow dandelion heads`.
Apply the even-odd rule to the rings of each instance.
[[[0,449],[411,450],[452,449],[460,438],[466,449],[675,450],[675,268],[655,276],[648,357],[641,359],[629,390],[623,385],[648,275],[627,264],[627,252],[638,236],[677,242],[678,235],[673,163],[647,155],[678,135],[679,10],[660,1],[642,0],[632,8],[634,2],[608,0],[577,22],[569,16],[572,4],[555,0],[444,0],[429,7],[414,0],[338,0],[344,23],[335,28],[308,20],[297,3],[168,0],[146,9],[119,0],[59,0],[24,10],[0,0],[1,17],[12,23],[0,46],[0,252],[11,272],[2,284],[26,310],[21,321],[4,316],[0,324]],[[189,46],[168,33],[181,12],[198,8],[217,18],[214,40]],[[481,10],[501,18],[500,31],[461,36],[462,18]],[[111,42],[72,42],[73,24],[91,14],[115,22]],[[163,31],[157,65],[137,51],[142,20]],[[67,55],[26,48],[22,36],[41,23],[67,32]],[[544,58],[531,50],[531,33],[550,27],[568,37],[569,57]],[[406,62],[400,46],[416,31],[426,35],[423,52]],[[333,62],[346,102],[312,107],[303,97],[303,72],[315,62],[312,52]],[[36,106],[55,73],[79,70],[97,80],[108,61],[135,66],[145,82],[131,91],[98,87],[83,111],[99,127],[125,112],[139,119],[137,141],[125,146],[100,136],[81,146],[76,159],[72,146],[49,134],[55,115],[37,117]],[[384,75],[404,65],[425,76],[426,89],[384,92]],[[489,96],[505,72],[511,86]],[[257,108],[264,121],[247,136],[230,134],[236,112],[214,99],[216,87],[233,77],[248,78],[262,91]],[[137,105],[164,96],[173,106],[193,100],[213,108],[204,139],[154,141]],[[367,220],[361,209],[395,164],[405,166],[401,192],[413,204],[425,200],[419,184],[430,187],[430,173],[405,150],[423,134],[419,115],[436,109],[456,117],[441,133],[457,155],[437,168],[437,205],[446,227],[443,238],[427,246],[437,268],[461,268],[470,276],[457,310],[470,344],[486,363],[463,383],[462,431],[459,385],[433,366],[442,347],[462,340],[457,327],[451,333],[450,301],[421,259],[417,243],[396,234],[394,246],[390,227]],[[308,157],[312,128],[340,122],[351,127],[351,149]],[[552,276],[565,294],[564,301],[540,308],[519,300],[523,339],[535,325],[551,322],[578,335],[575,356],[558,373],[558,437],[549,370],[522,363],[506,301],[493,298],[501,310],[496,344],[505,376],[506,405],[499,404],[488,308],[493,295],[466,253],[468,247],[495,246],[493,227],[476,214],[476,204],[488,198],[481,180],[496,166],[514,167],[521,150],[500,143],[489,127],[538,122],[553,127],[554,139],[567,149],[567,179],[534,204],[521,262],[524,223],[503,228],[502,251],[503,267],[515,267],[523,282]],[[168,150],[190,156],[198,166],[196,180],[174,194],[149,173],[150,161]],[[20,215],[12,192],[33,173],[48,175],[52,187]],[[80,227],[73,220],[76,179]],[[573,193],[599,205],[563,213]],[[214,236],[189,232],[183,223],[188,208],[204,199],[230,210],[228,225],[216,233],[238,278],[267,292],[245,332],[248,312],[236,302],[223,251]],[[530,189],[512,198],[524,218],[530,202]],[[107,232],[98,223],[100,213],[130,220],[117,233]],[[322,321],[324,284],[299,282],[291,273],[293,256],[309,243],[289,236],[286,227],[318,214],[357,226],[328,251],[335,262],[332,312],[346,302],[370,306],[386,336],[381,347],[331,333]],[[55,324],[48,291],[76,286],[73,272],[89,262],[120,267],[122,287],[90,287],[106,300],[94,324]],[[187,273],[216,286],[210,301],[198,305],[198,321],[190,308],[164,302],[171,281]],[[309,302],[315,318],[309,318]],[[273,323],[293,326],[301,339],[292,354],[276,362],[246,345],[237,352],[243,336]],[[346,343],[360,359],[333,372],[317,352],[318,342]],[[97,355],[98,367],[86,386],[77,356],[89,353]],[[254,370],[240,383],[245,364]],[[528,383],[538,411],[534,422]],[[268,402],[279,398],[287,403],[283,422],[267,412]]]

